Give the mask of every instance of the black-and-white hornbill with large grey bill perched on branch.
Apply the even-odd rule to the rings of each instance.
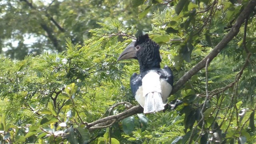
[[[140,74],[132,74],[130,87],[144,113],[164,109],[172,91],[173,74],[168,66],[160,68],[160,46],[148,34],[140,35],[120,54],[117,61],[134,58],[140,64]]]

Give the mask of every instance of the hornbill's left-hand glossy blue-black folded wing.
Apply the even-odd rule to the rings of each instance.
[[[131,78],[130,78],[130,86],[131,86],[131,90],[132,90],[132,94],[135,97],[135,94],[137,92],[137,90],[139,89],[139,87],[142,85],[142,78],[140,74],[132,74]]]

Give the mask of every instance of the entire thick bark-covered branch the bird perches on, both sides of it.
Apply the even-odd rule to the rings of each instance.
[[[254,7],[256,6],[256,0],[250,0],[248,2],[248,5],[242,10],[238,18],[236,19],[235,24],[232,26],[228,34],[218,43],[217,46],[198,64],[196,64],[192,69],[190,69],[180,80],[176,82],[172,89],[172,93],[176,93],[184,84],[187,82],[194,74],[196,74],[199,70],[204,68],[206,66],[206,61],[210,63],[217,55],[220,53],[222,49],[225,48],[225,46],[236,36],[239,32],[239,29],[241,25],[243,24],[244,20],[248,18],[249,14],[252,13]],[[122,120],[124,118],[127,118],[128,116],[132,116],[134,114],[142,113],[143,108],[141,106],[134,106],[130,108],[129,110],[126,110],[124,112],[121,112],[119,114],[113,115],[113,116],[107,116],[105,118],[101,118],[99,120],[96,120],[94,122],[88,123],[86,128],[88,130],[92,131],[97,128],[102,128],[102,126],[107,126],[111,124],[114,121]]]

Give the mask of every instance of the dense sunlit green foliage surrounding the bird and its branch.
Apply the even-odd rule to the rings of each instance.
[[[1,2],[0,142],[255,143],[255,11],[236,26],[250,4],[256,1]],[[185,79],[168,98],[183,103],[120,116],[139,109],[129,86],[139,66],[116,59],[141,32],[160,44],[176,88]],[[190,71],[204,60],[206,68]],[[187,80],[186,72],[193,73]]]

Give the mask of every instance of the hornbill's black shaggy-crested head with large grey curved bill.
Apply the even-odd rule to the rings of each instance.
[[[129,44],[120,54],[117,61],[130,58],[137,59],[140,64],[140,71],[151,68],[160,68],[160,46],[152,41],[148,34],[140,35],[136,41]]]

